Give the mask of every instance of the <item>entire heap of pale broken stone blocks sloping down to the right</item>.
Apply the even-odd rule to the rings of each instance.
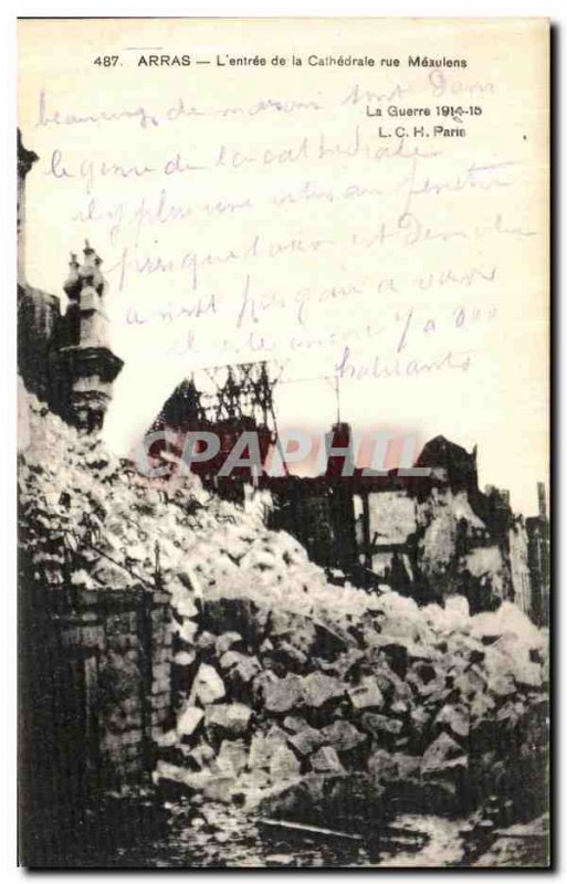
[[[512,603],[471,617],[463,597],[419,608],[387,586],[332,586],[259,512],[195,477],[149,482],[33,397],[28,431],[35,578],[124,589],[159,575],[171,592],[166,790],[345,828],[493,793],[511,824],[545,802],[531,785],[545,775],[547,640]]]

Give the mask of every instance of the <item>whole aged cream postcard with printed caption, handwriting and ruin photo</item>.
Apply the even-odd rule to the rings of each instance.
[[[22,862],[547,864],[548,21],[21,20],[19,127]]]

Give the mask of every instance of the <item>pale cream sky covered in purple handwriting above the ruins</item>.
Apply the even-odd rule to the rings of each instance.
[[[69,253],[104,259],[116,453],[183,377],[266,359],[281,428],[327,429],[338,377],[359,433],[476,444],[481,485],[536,512],[546,33],[491,27],[19,23],[27,277],[64,309]],[[426,52],[459,65],[409,66]]]

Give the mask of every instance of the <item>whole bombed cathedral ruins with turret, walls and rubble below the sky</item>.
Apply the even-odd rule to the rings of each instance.
[[[438,863],[517,822],[540,863],[544,486],[524,519],[442,435],[420,474],[343,475],[338,414],[319,475],[272,475],[267,362],[182,378],[148,481],[101,433],[123,368],[102,257],[72,253],[64,306],[25,278],[36,159],[19,138],[21,862],[388,865],[434,819]],[[219,448],[179,477],[190,432]],[[259,464],[224,475],[242,433]]]

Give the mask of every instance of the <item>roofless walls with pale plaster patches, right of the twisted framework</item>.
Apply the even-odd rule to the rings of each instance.
[[[339,477],[332,469],[272,481],[274,522],[311,545],[316,560],[367,585],[388,583],[420,602],[456,592],[473,611],[511,599],[532,613],[525,525],[505,494],[479,488],[476,452],[437,436],[414,465],[430,474]],[[309,533],[314,508],[335,538],[326,547]]]

